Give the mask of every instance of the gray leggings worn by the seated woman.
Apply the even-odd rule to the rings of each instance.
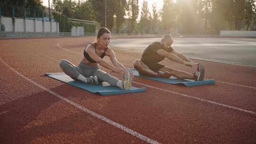
[[[63,59],[60,61],[60,67],[63,72],[70,76],[73,80],[77,80],[78,75],[81,74],[86,78],[90,76],[97,76],[98,81],[106,81],[111,86],[117,86],[117,82],[119,81],[109,73],[102,71],[98,65],[90,66],[83,63],[82,61],[80,61],[78,66],[75,66],[69,61]]]

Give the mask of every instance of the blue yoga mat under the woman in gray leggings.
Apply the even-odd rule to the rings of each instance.
[[[83,90],[88,90],[93,93],[100,93],[101,95],[112,95],[112,94],[123,94],[123,93],[132,93],[132,92],[142,92],[146,91],[146,88],[136,88],[131,87],[130,90],[121,90],[118,87],[107,86],[103,87],[102,84],[94,85],[94,84],[86,84],[82,81],[74,81],[64,72],[57,72],[57,73],[46,73],[47,76],[54,78],[59,81],[63,81],[65,83],[71,84]]]

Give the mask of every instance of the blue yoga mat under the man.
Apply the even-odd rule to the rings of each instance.
[[[157,78],[157,77],[146,77],[146,76],[141,76],[139,73],[136,71],[136,69],[131,69],[134,72],[134,75],[140,78],[144,79],[149,79],[149,80],[155,80],[155,81],[161,81],[165,83],[172,83],[172,84],[183,84],[186,87],[192,87],[192,86],[199,86],[199,85],[207,85],[207,84],[213,84],[215,83],[214,79],[211,80],[203,80],[203,81],[194,81],[194,80],[181,80],[177,79],[174,76],[168,78]]]

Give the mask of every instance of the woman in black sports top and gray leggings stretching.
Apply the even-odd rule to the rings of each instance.
[[[123,90],[130,88],[129,81],[120,81],[109,73],[102,71],[99,64],[107,69],[121,75],[127,74],[125,67],[116,59],[115,53],[110,49],[111,32],[106,27],[101,27],[98,31],[96,42],[87,45],[83,51],[83,57],[78,66],[67,60],[60,61],[61,69],[73,80],[83,81],[90,84],[98,84],[102,81],[103,86],[117,86]],[[103,58],[109,56],[113,65],[106,63]]]

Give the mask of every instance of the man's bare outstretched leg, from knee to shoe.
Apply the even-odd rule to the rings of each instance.
[[[193,73],[178,71],[178,70],[175,70],[175,69],[167,67],[167,66],[163,67],[159,71],[170,72],[174,77],[176,77],[178,79],[190,79],[190,80],[194,79]]]

